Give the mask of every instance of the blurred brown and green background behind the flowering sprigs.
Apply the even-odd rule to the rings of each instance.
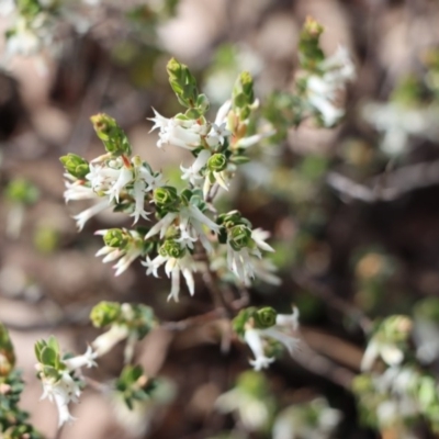
[[[80,10],[81,33],[60,18],[48,50],[8,59],[0,71],[0,320],[24,371],[22,407],[31,420],[55,437],[55,406],[38,401],[34,342],[55,334],[64,349],[82,352],[98,334],[88,318],[98,302],[145,303],[165,322],[212,309],[200,280],[194,297],[182,293],[175,304],[166,301],[168,280],[147,278],[139,263],[114,278],[94,257],[102,240],[93,233],[126,219],[100,214],[78,234],[71,216],[81,209],[64,202],[59,156],[102,154],[89,117],[105,112],[126,130],[135,154],[178,178],[188,156],[158,149],[147,120],[153,108],[168,117],[181,111],[168,85],[169,58],[195,74],[213,114],[241,70],[252,74],[263,101],[292,90],[299,34],[312,15],[325,26],[325,54],[346,46],[357,66],[356,81],[339,97],[344,122],[333,130],[303,123],[285,140],[258,149],[230,196],[219,199],[271,232],[282,284],[256,284],[251,304],[288,313],[294,303],[302,346],[263,379],[241,375],[249,369],[245,345],[221,349],[222,320],[194,318],[179,330],[156,330],[136,356],[160,376],[157,396],[128,412],[99,386],[87,390],[72,407],[78,420],[61,437],[263,439],[274,437],[274,414],[290,409],[286,418],[314,427],[278,439],[434,438],[423,419],[415,419],[412,436],[364,427],[351,384],[363,329],[391,314],[419,323],[416,346],[428,344],[426,363],[435,376],[439,371],[439,3],[123,3],[102,0]],[[122,357],[122,349],[106,356],[91,376],[116,376]],[[230,402],[217,403],[237,380],[262,380],[256,398],[262,406],[252,402],[237,414]]]

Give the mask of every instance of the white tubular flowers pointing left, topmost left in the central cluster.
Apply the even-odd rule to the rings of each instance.
[[[157,146],[162,145],[180,146],[184,149],[193,149],[201,145],[201,136],[206,135],[206,125],[198,123],[193,120],[181,120],[177,117],[167,119],[154,110],[155,117],[151,131],[159,128],[159,140]]]

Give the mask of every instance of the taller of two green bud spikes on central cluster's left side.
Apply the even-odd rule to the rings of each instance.
[[[103,142],[108,153],[131,156],[131,145],[125,132],[108,114],[100,113],[90,117],[98,137]]]

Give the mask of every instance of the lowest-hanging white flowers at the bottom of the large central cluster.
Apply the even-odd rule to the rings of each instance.
[[[142,264],[147,268],[146,274],[153,273],[156,278],[158,277],[158,268],[164,263],[166,275],[171,279],[171,292],[169,293],[168,301],[170,299],[173,299],[176,302],[179,301],[180,272],[184,277],[189,293],[193,295],[195,292],[195,283],[192,272],[196,271],[196,266],[192,257],[190,255],[184,255],[182,258],[170,258],[158,255],[151,260],[147,256],[146,261],[142,262]]]

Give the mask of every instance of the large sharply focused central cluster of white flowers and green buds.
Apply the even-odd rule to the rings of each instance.
[[[228,190],[237,165],[246,161],[246,148],[266,136],[248,128],[258,105],[251,77],[243,74],[238,78],[232,99],[222,105],[215,121],[210,122],[204,115],[209,109],[207,98],[198,92],[188,67],[171,59],[168,74],[187,111],[171,119],[155,112],[153,131],[159,130],[158,147],[173,145],[191,150],[192,165],[181,167],[185,188],[178,190],[169,185],[147,161],[133,157],[126,134],[106,114],[91,117],[106,153],[91,161],[74,154],[60,160],[66,169],[66,202],[93,202],[91,207],[74,216],[79,229],[109,207],[128,214],[134,224],[140,219],[149,222],[154,214],[157,222],[149,227],[98,230],[104,247],[97,256],[103,256],[103,262],[117,260],[116,275],[137,258],[144,258],[146,274],[158,277],[164,266],[171,279],[169,299],[178,301],[181,275],[193,295],[193,273],[213,270],[215,264],[207,262],[218,259],[218,255],[224,255],[221,258],[236,281],[249,285],[258,269],[264,266],[262,251],[273,249],[266,243],[269,235],[252,229],[239,212],[216,217],[210,213],[214,212],[211,202],[216,190]],[[270,275],[272,266],[266,263],[266,267],[267,275],[261,279],[277,282],[277,278]]]

